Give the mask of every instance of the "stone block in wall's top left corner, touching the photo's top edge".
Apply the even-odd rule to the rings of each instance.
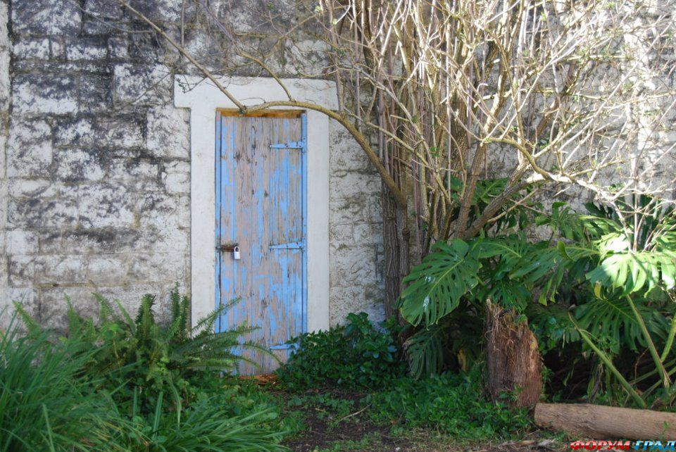
[[[71,0],[12,1],[12,30],[16,34],[64,34],[80,32],[82,11]]]

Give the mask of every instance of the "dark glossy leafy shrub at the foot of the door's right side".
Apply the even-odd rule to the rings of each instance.
[[[378,329],[366,313],[351,313],[346,325],[304,333],[289,344],[296,349],[277,375],[293,390],[327,384],[380,387],[403,370],[391,329]]]

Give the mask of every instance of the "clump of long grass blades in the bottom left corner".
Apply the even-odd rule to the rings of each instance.
[[[115,451],[125,421],[106,394],[82,375],[90,353],[78,341],[20,336],[15,322],[0,337],[0,451]]]

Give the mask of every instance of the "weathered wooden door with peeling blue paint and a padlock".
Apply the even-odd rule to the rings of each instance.
[[[245,337],[284,361],[284,343],[306,327],[306,119],[296,112],[241,117],[216,114],[216,300],[241,301],[220,331],[246,322]],[[235,255],[234,247],[239,249]],[[242,351],[267,373],[277,361]]]

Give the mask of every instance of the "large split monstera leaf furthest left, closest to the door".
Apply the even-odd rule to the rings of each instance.
[[[477,248],[455,239],[439,241],[432,252],[403,279],[408,286],[399,300],[401,315],[413,325],[433,325],[458,307],[462,296],[477,285],[481,264]]]

